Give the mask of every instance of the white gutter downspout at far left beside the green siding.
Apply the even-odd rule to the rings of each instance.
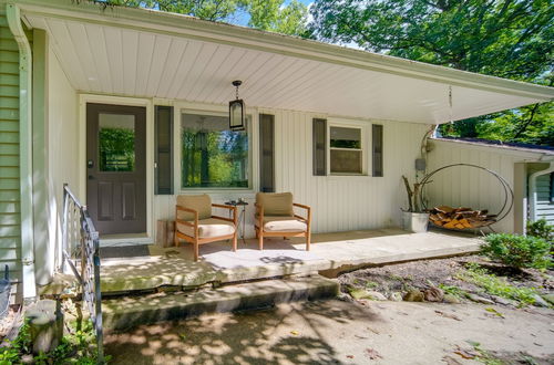
[[[6,7],[8,27],[19,46],[19,158],[21,189],[21,263],[23,280],[23,300],[37,298],[34,279],[34,240],[32,205],[32,101],[31,70],[32,54],[27,35],[21,27],[19,8],[13,3]]]

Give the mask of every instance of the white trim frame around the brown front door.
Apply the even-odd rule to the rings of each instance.
[[[154,106],[152,100],[79,94],[79,196],[86,205],[86,103],[102,103],[114,105],[145,106],[146,107],[146,238],[101,240],[101,246],[114,246],[115,241],[125,241],[130,243],[145,244],[153,243],[153,205],[154,205]],[[114,242],[112,242],[114,241]]]

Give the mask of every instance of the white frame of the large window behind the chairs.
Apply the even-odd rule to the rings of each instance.
[[[174,184],[176,187],[176,191],[179,194],[191,194],[191,192],[206,192],[209,195],[218,195],[218,194],[253,194],[258,185],[257,179],[257,152],[254,148],[257,146],[254,143],[254,137],[257,134],[257,113],[255,109],[247,108],[246,115],[249,116],[249,121],[247,121],[246,131],[248,134],[248,187],[183,187],[182,185],[182,115],[183,114],[198,114],[198,115],[214,115],[214,116],[225,116],[228,117],[228,108],[217,107],[213,105],[199,105],[199,104],[189,104],[182,103],[175,105],[175,109],[177,113],[174,114],[174,148],[175,156],[174,159]],[[256,118],[256,121],[255,121]],[[256,131],[255,131],[256,129]]]

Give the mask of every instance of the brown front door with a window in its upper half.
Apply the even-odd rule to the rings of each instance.
[[[86,205],[101,234],[146,232],[146,108],[86,104]]]

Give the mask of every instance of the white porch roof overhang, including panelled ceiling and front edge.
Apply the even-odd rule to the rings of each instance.
[[[144,9],[19,0],[75,90],[440,124],[554,98],[554,88]],[[449,93],[452,91],[452,106]]]

